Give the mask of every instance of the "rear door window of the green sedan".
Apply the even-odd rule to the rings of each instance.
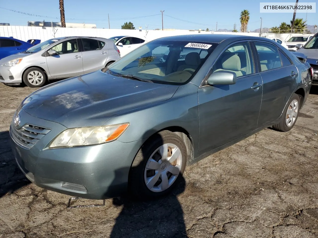
[[[276,46],[265,43],[255,42],[256,50],[259,55],[261,71],[280,68],[280,54]]]

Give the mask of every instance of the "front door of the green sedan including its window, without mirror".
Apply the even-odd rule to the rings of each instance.
[[[257,129],[263,87],[253,62],[250,44],[235,43],[221,54],[211,71],[234,72],[237,82],[198,89],[200,155]]]

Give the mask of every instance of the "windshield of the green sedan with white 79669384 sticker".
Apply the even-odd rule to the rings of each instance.
[[[183,84],[194,76],[217,43],[155,40],[110,65],[109,74],[153,83]]]

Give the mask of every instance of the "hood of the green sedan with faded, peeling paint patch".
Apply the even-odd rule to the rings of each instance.
[[[167,100],[177,88],[178,85],[141,82],[98,70],[38,89],[21,107],[32,116],[68,128],[98,126],[113,116]]]

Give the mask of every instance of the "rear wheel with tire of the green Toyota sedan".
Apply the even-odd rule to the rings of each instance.
[[[297,121],[300,108],[300,98],[297,94],[294,94],[287,102],[280,122],[273,125],[273,129],[281,132],[291,130]]]

